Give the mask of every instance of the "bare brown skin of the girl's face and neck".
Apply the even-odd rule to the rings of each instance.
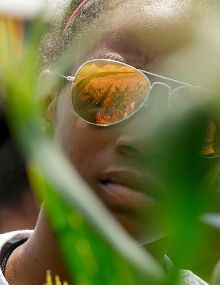
[[[193,23],[195,17],[190,13],[191,3],[177,4],[177,1],[122,2],[112,17],[105,17],[108,28],[104,37],[75,64],[72,75],[81,63],[94,58],[116,59],[136,68],[159,71],[171,54],[191,42],[197,34]],[[75,116],[70,105],[70,87],[67,83],[58,99],[56,94],[46,95],[52,97],[48,112],[55,137],[81,176],[127,231],[140,238],[149,238],[147,229],[142,232],[140,215],[146,209],[157,212],[157,199],[149,189],[159,187],[161,182],[156,171],[158,145],[153,139],[150,122],[157,122],[167,100],[164,96],[167,91],[162,90],[163,96],[155,92],[149,112],[143,107],[123,123],[97,127]],[[146,180],[144,193],[131,185],[129,179],[132,176]],[[103,181],[107,183],[103,184]],[[161,260],[166,246],[161,243],[157,250],[154,246],[151,248]],[[10,285],[42,284],[47,269],[59,274],[63,280],[67,278],[54,236],[41,210],[32,236],[10,256],[6,279]]]

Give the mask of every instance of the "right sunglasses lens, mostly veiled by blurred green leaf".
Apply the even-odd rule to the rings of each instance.
[[[168,101],[170,113],[189,110],[190,107],[199,107],[206,114],[208,121],[205,126],[205,136],[202,144],[201,155],[215,157],[220,155],[220,116],[218,109],[208,103],[213,92],[201,87],[184,86],[175,89]]]

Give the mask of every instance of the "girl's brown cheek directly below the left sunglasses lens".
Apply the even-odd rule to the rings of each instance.
[[[61,96],[56,106],[55,138],[82,177],[90,182],[100,172],[102,165],[108,163],[109,154],[114,151],[114,136],[109,129],[78,119],[69,96]]]

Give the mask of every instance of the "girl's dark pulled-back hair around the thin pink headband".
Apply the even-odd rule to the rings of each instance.
[[[81,38],[80,32],[89,27],[96,19],[102,15],[102,12],[112,11],[123,0],[90,0],[76,14],[68,28],[63,34],[63,30],[68,23],[69,18],[75,9],[82,3],[82,0],[72,0],[71,3],[62,8],[61,16],[54,16],[51,20],[49,32],[42,40],[40,47],[40,57],[43,60],[42,68],[53,67],[57,57],[64,53],[65,49],[77,42]],[[103,27],[98,27],[99,32]],[[67,59],[68,60],[68,59]]]

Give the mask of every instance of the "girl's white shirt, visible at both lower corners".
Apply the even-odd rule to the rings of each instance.
[[[24,230],[0,234],[0,260],[2,260],[5,252],[12,244],[18,242],[18,240],[30,237],[32,232],[33,231]],[[208,285],[205,281],[194,275],[189,270],[182,270],[181,275],[183,278],[180,285]],[[0,285],[9,285],[1,270]]]

